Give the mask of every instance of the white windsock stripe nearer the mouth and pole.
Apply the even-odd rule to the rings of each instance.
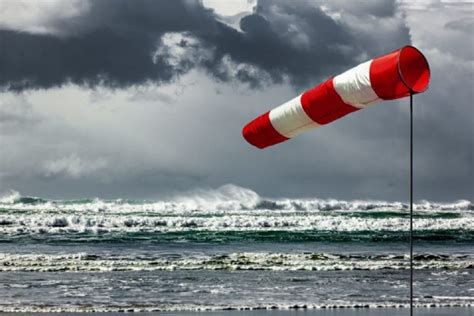
[[[334,77],[333,85],[341,99],[359,109],[379,100],[370,82],[372,60]]]

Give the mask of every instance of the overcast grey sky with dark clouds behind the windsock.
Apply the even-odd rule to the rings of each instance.
[[[231,183],[407,200],[407,99],[265,150],[241,129],[411,44],[432,72],[415,96],[415,198],[472,200],[473,32],[462,1],[0,0],[0,192],[160,198]]]

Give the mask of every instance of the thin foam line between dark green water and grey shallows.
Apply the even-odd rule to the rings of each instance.
[[[406,256],[330,253],[240,252],[218,255],[141,256],[73,254],[0,254],[0,272],[269,270],[335,271],[409,269]],[[467,255],[419,254],[415,269],[474,269]]]

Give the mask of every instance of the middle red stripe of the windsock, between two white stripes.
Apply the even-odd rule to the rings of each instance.
[[[332,78],[303,93],[301,104],[306,114],[321,125],[359,110],[342,101],[334,89]]]

